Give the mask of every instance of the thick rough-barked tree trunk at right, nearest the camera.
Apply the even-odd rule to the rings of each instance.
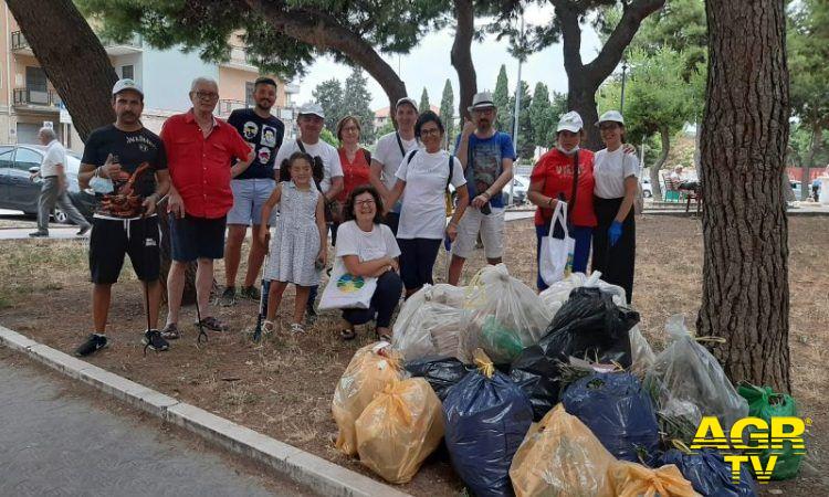
[[[705,2],[704,263],[696,326],[699,335],[727,340],[713,352],[733,382],[790,391],[788,222],[780,181],[789,130],[784,3]]]

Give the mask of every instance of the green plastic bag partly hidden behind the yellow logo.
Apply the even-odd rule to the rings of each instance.
[[[772,422],[772,417],[797,416],[797,403],[795,399],[785,393],[777,393],[770,387],[755,387],[751,383],[741,383],[737,392],[748,401],[748,415],[759,417],[766,423]],[[801,454],[794,454],[791,442],[784,442],[783,448],[768,448],[760,453],[763,465],[766,465],[768,457],[777,456],[772,479],[789,479],[797,476],[800,469]]]

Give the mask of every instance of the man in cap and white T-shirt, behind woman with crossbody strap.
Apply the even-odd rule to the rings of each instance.
[[[397,168],[400,167],[400,162],[403,161],[403,157],[418,148],[418,139],[414,137],[418,104],[409,97],[397,101],[395,120],[397,121],[397,131],[381,136],[377,140],[375,154],[371,156],[369,180],[384,199],[395,188],[395,182],[397,182],[395,175]],[[400,222],[400,202],[389,205],[389,212],[386,214],[384,222],[397,235],[397,226]]]

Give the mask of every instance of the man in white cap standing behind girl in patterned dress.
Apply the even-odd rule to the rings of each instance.
[[[339,162],[339,152],[333,146],[319,139],[319,134],[325,125],[325,113],[319,104],[311,103],[300,107],[296,116],[296,125],[300,128],[300,137],[286,141],[276,154],[274,168],[280,169],[282,162],[287,160],[292,154],[303,151],[314,158],[315,162],[322,162],[323,177],[318,180],[319,191],[325,197],[326,205],[329,205],[343,191],[343,165]],[[316,168],[315,168],[316,169]],[[326,209],[327,210],[327,209]],[[330,224],[332,220],[326,220]],[[313,321],[316,317],[314,300],[316,300],[317,287],[311,287],[307,304],[307,319]]]

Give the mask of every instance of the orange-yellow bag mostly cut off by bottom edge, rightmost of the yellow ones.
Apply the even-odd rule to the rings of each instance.
[[[691,482],[674,464],[651,469],[641,464],[617,461],[610,467],[616,495],[619,497],[697,497]]]

